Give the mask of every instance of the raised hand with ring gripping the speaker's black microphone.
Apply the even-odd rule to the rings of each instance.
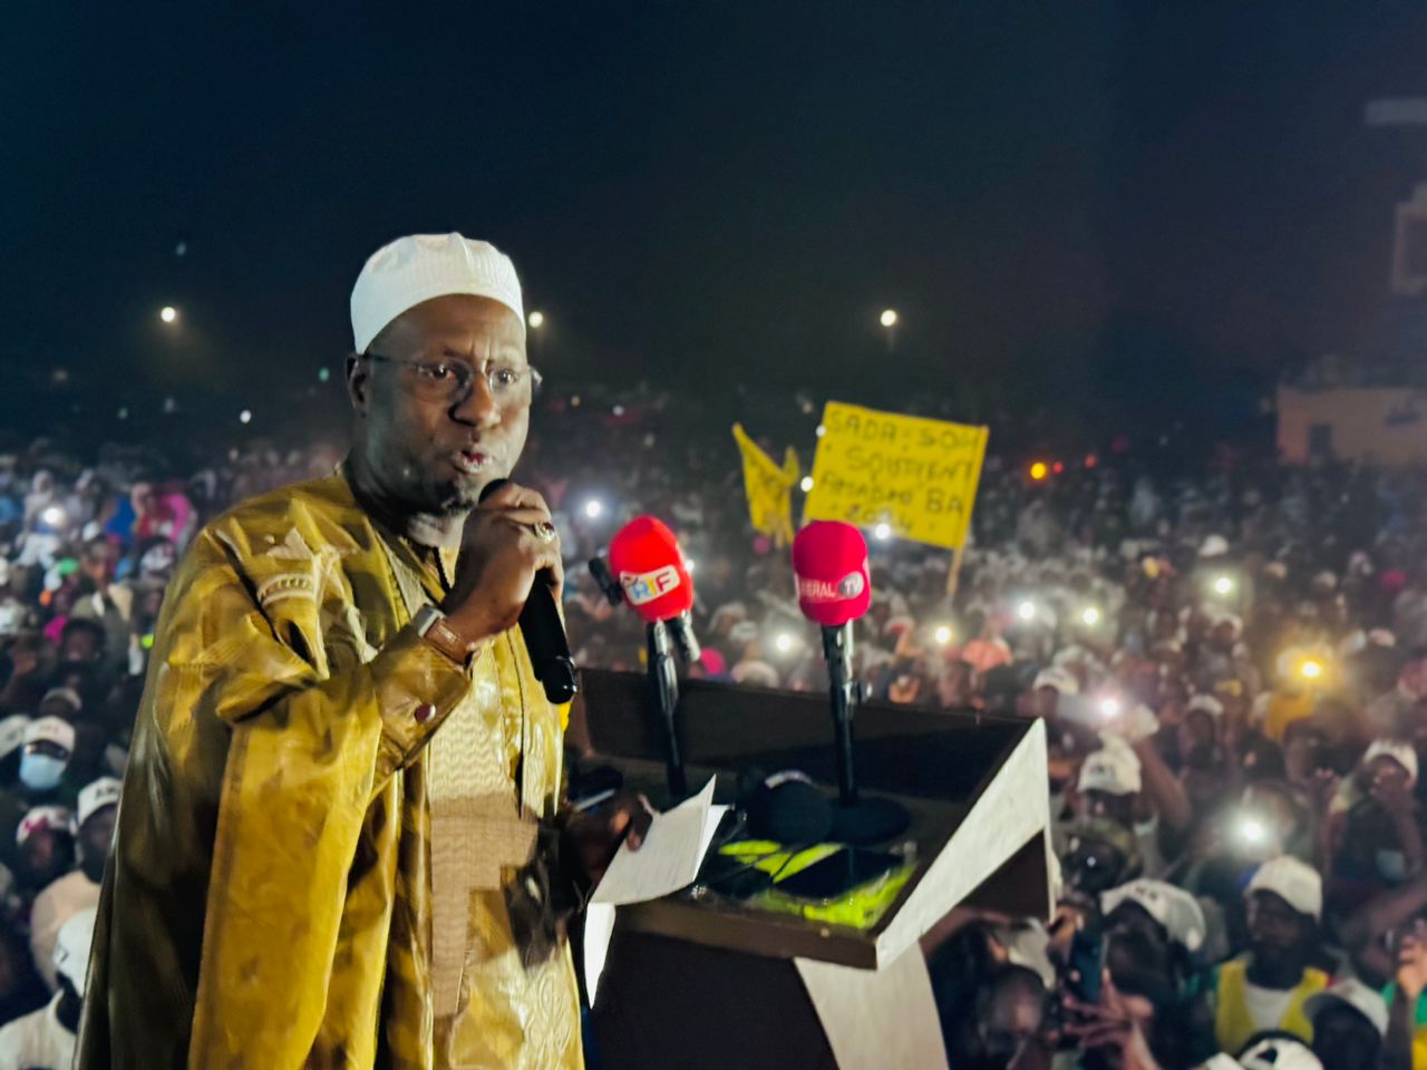
[[[505,484],[475,506],[461,535],[455,584],[441,605],[457,633],[475,643],[514,628],[531,588],[544,582],[537,579],[541,572],[554,579],[559,601],[559,538],[539,536],[554,529],[545,499],[518,484]]]

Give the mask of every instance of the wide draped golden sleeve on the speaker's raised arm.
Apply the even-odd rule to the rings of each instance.
[[[154,702],[170,733],[210,718],[231,728],[190,1064],[297,1067],[334,969],[381,969],[334,963],[368,807],[400,792],[394,773],[471,685],[410,625],[370,661],[330,662],[320,606],[350,606],[351,592],[321,555],[273,558],[204,532],[183,572]]]

